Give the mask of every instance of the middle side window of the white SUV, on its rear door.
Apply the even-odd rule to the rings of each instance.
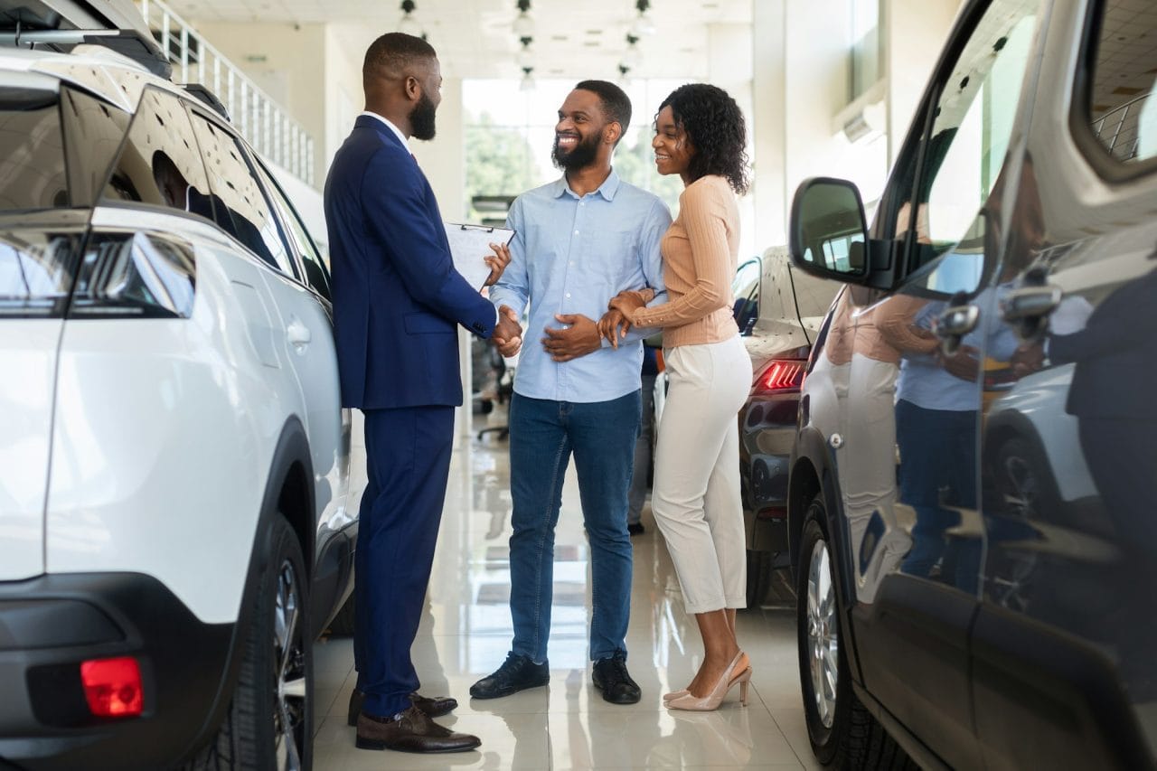
[[[296,277],[288,245],[241,146],[224,128],[196,112],[192,122],[209,172],[218,225],[277,270]]]

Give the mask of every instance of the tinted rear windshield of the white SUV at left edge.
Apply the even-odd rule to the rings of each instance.
[[[0,88],[0,211],[72,206],[59,96]]]

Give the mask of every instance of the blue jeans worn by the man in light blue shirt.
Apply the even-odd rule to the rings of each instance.
[[[610,402],[510,401],[511,651],[546,661],[554,589],[554,527],[570,454],[590,539],[590,658],[626,653],[631,617],[627,487],[639,434],[639,391]]]

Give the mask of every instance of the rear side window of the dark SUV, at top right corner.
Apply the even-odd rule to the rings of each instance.
[[[1086,120],[1100,145],[1121,163],[1157,156],[1157,13],[1148,3],[1106,0],[1092,23],[1099,27]]]

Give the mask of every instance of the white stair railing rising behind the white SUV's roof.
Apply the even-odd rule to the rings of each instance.
[[[172,80],[209,88],[255,150],[312,185],[314,138],[302,125],[161,0],[135,2],[172,64]]]

